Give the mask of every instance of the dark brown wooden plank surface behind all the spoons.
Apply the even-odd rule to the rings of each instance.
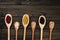
[[[7,27],[4,17],[10,13],[13,16],[13,23],[20,22],[18,31],[18,40],[23,40],[22,16],[27,12],[30,16],[30,23],[27,27],[26,40],[31,40],[32,30],[31,22],[34,20],[37,23],[35,29],[35,40],[40,40],[40,27],[38,18],[40,15],[45,15],[47,22],[44,28],[43,40],[49,40],[49,21],[55,22],[55,27],[52,33],[52,40],[60,40],[60,1],[59,0],[0,0],[0,40],[7,40]],[[12,23],[11,40],[15,40],[15,29]]]

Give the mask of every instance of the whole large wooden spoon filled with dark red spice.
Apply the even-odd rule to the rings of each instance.
[[[12,24],[12,15],[11,14],[6,14],[5,23],[8,28],[8,40],[10,40],[10,26]]]

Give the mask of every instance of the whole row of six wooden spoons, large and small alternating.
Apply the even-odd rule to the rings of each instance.
[[[44,15],[41,15],[39,17],[38,22],[39,22],[39,26],[41,28],[40,40],[42,40],[43,39],[43,28],[46,25],[46,17]],[[5,23],[6,23],[6,26],[8,28],[8,40],[10,40],[10,26],[12,24],[12,15],[11,14],[6,14]],[[25,40],[26,39],[26,28],[29,24],[29,15],[28,14],[23,15],[22,24],[24,26],[23,40]],[[55,24],[54,21],[50,21],[50,23],[49,23],[49,28],[50,28],[50,39],[49,40],[51,40],[51,34],[52,34],[52,30],[54,28],[54,24]],[[20,26],[20,23],[18,21],[14,22],[14,27],[15,27],[15,30],[16,30],[16,40],[18,38],[17,34],[18,34],[19,26]],[[34,40],[34,31],[35,31],[35,28],[36,28],[36,22],[35,21],[31,22],[31,28],[32,28],[32,40]]]

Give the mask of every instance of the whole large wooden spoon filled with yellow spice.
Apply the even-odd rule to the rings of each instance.
[[[24,37],[23,37],[23,40],[25,40],[25,38],[26,38],[26,28],[27,28],[27,26],[29,24],[29,15],[28,14],[24,14],[23,15],[22,24],[24,26]]]

